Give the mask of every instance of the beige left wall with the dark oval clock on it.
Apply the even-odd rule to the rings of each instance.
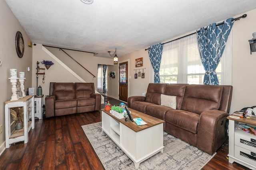
[[[3,132],[0,134],[0,153],[5,148],[5,116],[4,116],[4,102],[11,99],[11,83],[8,78],[10,77],[10,68],[16,68],[17,72],[25,72],[25,91],[31,86],[32,71],[27,71],[27,68],[32,69],[32,48],[28,47],[28,41],[30,41],[28,35],[10,10],[9,6],[4,0],[0,0],[0,60],[2,66],[0,66],[0,125],[3,125]],[[15,49],[15,35],[16,32],[22,33],[25,50],[22,58],[19,58]],[[18,83],[19,85],[19,83]]]

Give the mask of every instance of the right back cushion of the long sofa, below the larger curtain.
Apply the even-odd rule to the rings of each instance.
[[[197,114],[206,110],[218,110],[222,93],[222,86],[190,84],[187,86],[181,109]]]

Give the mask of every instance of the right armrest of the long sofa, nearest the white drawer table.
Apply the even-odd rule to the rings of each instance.
[[[228,115],[220,110],[206,110],[200,114],[196,140],[198,149],[212,155],[224,143]]]

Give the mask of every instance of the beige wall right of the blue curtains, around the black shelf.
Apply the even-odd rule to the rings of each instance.
[[[232,112],[256,106],[256,52],[250,54],[248,42],[256,32],[256,10],[246,14],[246,18],[236,21],[232,27]]]

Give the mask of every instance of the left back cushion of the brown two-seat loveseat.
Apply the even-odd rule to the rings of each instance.
[[[54,83],[53,95],[56,96],[56,100],[75,99],[75,84]]]

